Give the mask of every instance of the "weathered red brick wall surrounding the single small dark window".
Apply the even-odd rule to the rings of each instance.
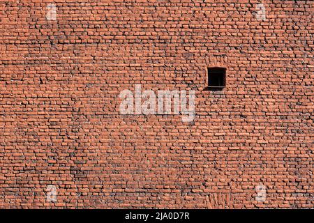
[[[0,207],[313,208],[314,3],[258,3],[0,1]],[[194,121],[121,115],[135,84]]]

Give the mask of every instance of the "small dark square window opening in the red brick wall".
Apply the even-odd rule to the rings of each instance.
[[[208,68],[208,87],[223,89],[225,87],[226,68]]]

